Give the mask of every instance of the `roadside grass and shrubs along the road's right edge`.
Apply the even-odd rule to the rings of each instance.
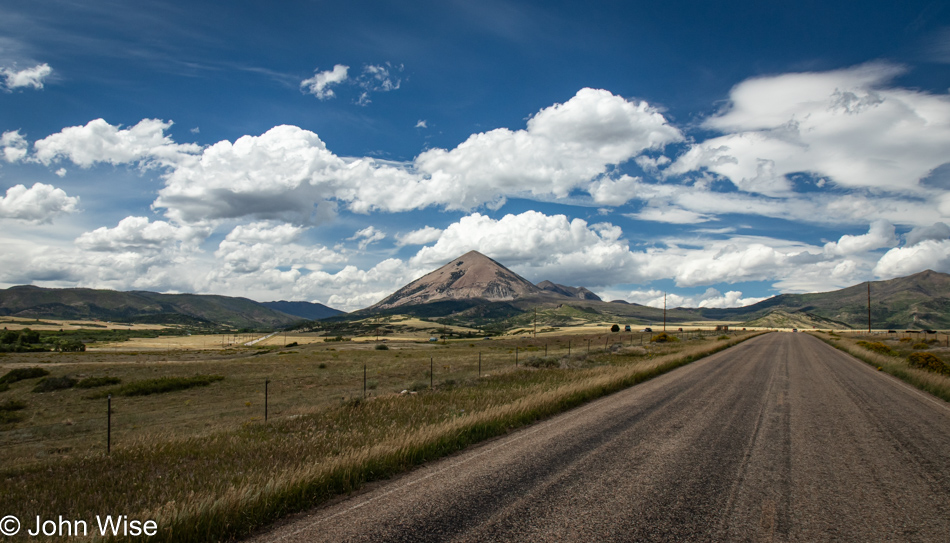
[[[936,337],[930,339],[890,334],[847,334],[818,332],[826,343],[889,373],[923,391],[950,402],[950,348]],[[945,339],[945,337],[944,337]]]

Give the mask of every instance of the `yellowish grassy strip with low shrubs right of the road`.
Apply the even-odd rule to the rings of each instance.
[[[924,352],[950,364],[950,335],[886,332],[818,332],[814,335],[880,371],[950,402],[950,375],[918,369],[908,363],[912,353]]]

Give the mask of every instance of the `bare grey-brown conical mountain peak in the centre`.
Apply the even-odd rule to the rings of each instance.
[[[402,287],[366,311],[446,300],[507,302],[542,292],[527,279],[487,256],[469,251]]]

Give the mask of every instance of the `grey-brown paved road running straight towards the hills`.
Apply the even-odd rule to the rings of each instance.
[[[257,541],[950,541],[950,409],[773,333]]]

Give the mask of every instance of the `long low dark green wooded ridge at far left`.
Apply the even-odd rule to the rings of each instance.
[[[0,315],[235,328],[273,328],[300,320],[247,298],[34,286],[0,289]]]

